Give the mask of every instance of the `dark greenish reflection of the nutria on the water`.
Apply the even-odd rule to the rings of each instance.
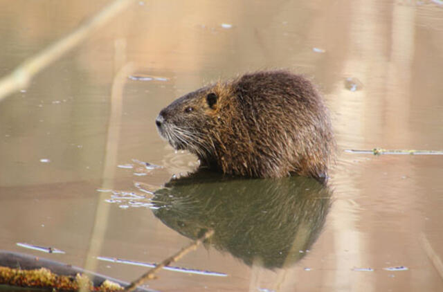
[[[226,179],[197,172],[172,179],[153,198],[154,215],[196,239],[208,229],[210,243],[246,264],[288,266],[316,241],[331,192],[314,179]]]

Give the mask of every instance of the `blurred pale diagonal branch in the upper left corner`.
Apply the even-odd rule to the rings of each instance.
[[[94,15],[91,19],[84,21],[76,30],[66,37],[58,40],[48,48],[37,53],[28,60],[25,60],[10,75],[0,80],[0,102],[10,93],[24,89],[28,86],[30,80],[35,74],[42,71],[46,66],[64,55],[71,48],[80,44],[93,30],[105,24],[109,19],[117,15],[124,8],[129,6],[134,0],[116,0],[109,4],[103,10]]]

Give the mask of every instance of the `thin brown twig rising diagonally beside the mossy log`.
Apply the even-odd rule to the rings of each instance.
[[[183,257],[183,255],[186,255],[190,251],[195,250],[200,244],[203,243],[203,241],[205,241],[209,237],[213,236],[213,234],[214,234],[214,230],[207,231],[202,237],[200,237],[199,239],[192,242],[192,244],[190,244],[186,248],[181,248],[181,250],[178,253],[175,253],[174,255],[168,257],[163,262],[156,265],[155,268],[151,268],[150,271],[147,271],[147,273],[145,273],[144,275],[139,277],[137,280],[135,280],[134,282],[129,284],[129,286],[127,286],[124,291],[125,292],[134,291],[134,289],[136,289],[137,286],[143,284],[143,282],[145,282],[147,280],[154,279],[155,273],[157,271],[159,271],[164,266],[169,266],[173,262],[177,262],[179,259],[181,259],[181,257]]]

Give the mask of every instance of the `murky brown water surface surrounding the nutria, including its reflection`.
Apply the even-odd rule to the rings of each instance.
[[[1,1],[1,75],[104,4]],[[197,165],[159,138],[162,107],[281,67],[327,99],[329,188],[208,179],[152,194]],[[149,287],[442,291],[443,156],[343,152],[443,149],[442,76],[442,1],[141,1],[0,104],[0,249],[134,280],[146,268],[96,257],[160,262],[210,227],[213,245],[174,264],[192,273]]]

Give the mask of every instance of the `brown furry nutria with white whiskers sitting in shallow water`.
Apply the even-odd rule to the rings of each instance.
[[[188,93],[162,109],[156,125],[201,166],[238,176],[327,176],[334,149],[329,114],[305,77],[259,71]]]

